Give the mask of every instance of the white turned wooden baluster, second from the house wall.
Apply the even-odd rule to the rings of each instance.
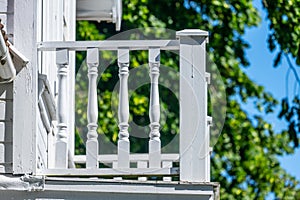
[[[97,48],[87,50],[87,65],[89,78],[88,92],[88,133],[86,142],[86,168],[98,168],[98,101],[97,101],[97,76],[99,65],[99,50]]]

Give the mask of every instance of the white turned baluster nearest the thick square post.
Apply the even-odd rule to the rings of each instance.
[[[159,104],[159,65],[160,65],[160,50],[158,48],[149,49],[149,67],[150,67],[150,140],[149,140],[149,167],[161,167],[161,142],[159,133],[160,119],[160,104]]]

